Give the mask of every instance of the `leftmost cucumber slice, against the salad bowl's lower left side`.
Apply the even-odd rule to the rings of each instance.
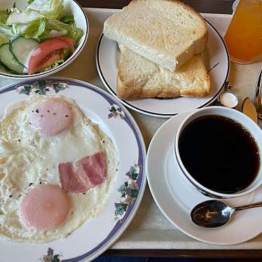
[[[15,60],[15,57],[13,57],[9,50],[9,43],[4,43],[2,46],[0,46],[0,61],[11,71],[15,71],[18,74],[24,74],[25,67],[18,63]]]

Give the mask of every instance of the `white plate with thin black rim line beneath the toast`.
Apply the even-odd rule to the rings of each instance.
[[[130,101],[120,100],[120,102],[140,113],[164,118],[174,116],[177,113],[198,109],[214,102],[228,78],[229,57],[226,45],[219,32],[208,21],[207,27],[208,40],[207,47],[203,53],[203,59],[209,71],[211,81],[209,96],[202,98],[178,97],[174,99],[143,98]],[[119,55],[120,52],[116,41],[107,39],[102,34],[97,44],[97,70],[102,82],[114,97],[116,97],[116,76]]]

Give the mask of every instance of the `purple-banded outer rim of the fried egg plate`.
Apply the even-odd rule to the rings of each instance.
[[[60,76],[53,76],[53,77],[48,76],[48,77],[41,78],[41,79],[26,79],[24,81],[11,83],[9,85],[4,86],[3,88],[0,88],[0,95],[3,94],[3,93],[15,90],[18,86],[23,85],[23,83],[28,83],[28,82],[34,83],[34,82],[42,81],[42,80],[47,80],[47,81],[48,80],[49,81],[57,80],[57,81],[68,81],[68,82],[73,82],[73,83],[74,82],[80,83],[80,84],[82,84],[82,86],[81,86],[82,88],[86,88],[88,90],[90,90],[90,88],[88,88],[88,85],[89,85],[93,90],[98,91],[98,92],[95,92],[98,95],[101,95],[101,94],[99,94],[99,92],[101,92],[102,94],[104,94],[106,96],[106,100],[109,99],[109,100],[113,101],[114,104],[117,104],[120,107],[120,109],[123,110],[123,112],[125,113],[125,116],[128,116],[130,122],[132,123],[132,125],[134,127],[134,130],[133,130],[133,132],[135,131],[134,135],[135,135],[135,137],[137,135],[136,139],[138,139],[139,143],[141,144],[141,150],[142,151],[138,152],[138,153],[142,153],[142,160],[143,160],[141,186],[139,188],[139,194],[137,195],[135,203],[132,206],[130,213],[125,217],[125,220],[123,221],[123,223],[121,223],[120,228],[118,228],[118,230],[116,230],[116,233],[113,233],[113,235],[111,235],[113,229],[118,225],[118,223],[120,223],[119,221],[117,221],[113,225],[113,228],[111,228],[111,231],[109,232],[109,234],[101,242],[99,242],[99,244],[97,244],[97,246],[93,247],[90,250],[90,251],[92,251],[93,249],[99,247],[99,245],[102,244],[102,242],[104,242],[104,240],[106,240],[106,238],[108,238],[111,235],[109,237],[109,239],[106,240],[106,242],[104,244],[102,244],[102,247],[99,247],[99,249],[97,251],[93,251],[91,254],[88,254],[90,251],[87,251],[84,254],[81,254],[81,255],[76,256],[74,258],[62,259],[62,262],[92,261],[93,259],[97,258],[97,256],[104,253],[104,251],[109,249],[109,247],[111,247],[111,245],[118,240],[118,238],[125,232],[127,227],[130,225],[130,223],[132,222],[132,219],[134,219],[135,214],[137,214],[137,211],[139,209],[139,206],[140,206],[142,199],[143,199],[143,196],[144,196],[144,191],[145,191],[145,188],[146,188],[146,181],[147,181],[147,177],[146,177],[146,146],[145,146],[145,143],[144,143],[144,137],[142,135],[142,132],[141,132],[139,126],[137,125],[137,122],[135,121],[135,118],[133,118],[131,113],[127,109],[125,109],[125,106],[123,106],[123,104],[121,104],[115,97],[110,95],[109,92],[106,92],[106,90],[103,90],[102,88],[99,88],[97,85],[93,85],[92,83],[88,83],[86,81],[82,81],[82,80],[78,80],[78,79],[74,79],[74,78],[60,77]],[[85,85],[85,86],[83,86],[83,85]],[[127,123],[127,125],[129,125],[129,127],[131,128],[129,123]],[[127,212],[128,212],[128,210],[127,210]],[[65,238],[65,240],[66,240],[66,238]]]

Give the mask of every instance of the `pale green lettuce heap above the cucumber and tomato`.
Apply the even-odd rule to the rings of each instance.
[[[39,42],[67,36],[77,44],[83,32],[76,27],[74,15],[65,15],[60,21],[63,8],[63,0],[34,0],[24,11],[12,8],[9,16],[6,11],[0,10],[0,32],[10,37],[23,36]]]

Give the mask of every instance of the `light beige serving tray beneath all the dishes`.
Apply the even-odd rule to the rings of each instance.
[[[104,20],[118,10],[114,9],[100,9],[100,8],[85,8],[90,22],[90,35],[88,43],[85,46],[83,53],[66,69],[60,71],[54,76],[64,76],[69,78],[76,78],[82,81],[87,81],[100,88],[106,90],[102,81],[100,80],[96,64],[95,53],[97,41],[102,32],[102,25]],[[202,14],[204,18],[218,29],[223,34],[230,22],[231,15],[220,14]],[[244,97],[252,97],[258,71],[262,66],[262,62],[256,62],[249,65],[239,65],[231,63],[229,80],[233,82],[233,91],[240,99],[241,108]],[[247,77],[248,76],[248,77]],[[13,83],[14,81],[0,78],[0,88],[4,85]],[[152,116],[144,116],[141,113],[130,110],[134,116],[137,124],[142,131],[146,146],[149,145],[158,127],[165,123],[167,118],[155,118]],[[260,122],[260,126],[261,122]],[[135,218],[125,233],[120,239],[113,244],[111,249],[261,249],[262,235],[233,246],[219,246],[212,244],[205,244],[198,240],[186,236],[184,233],[175,228],[165,216],[160,212],[156,203],[154,202],[148,186],[144,193],[144,198],[139,207]]]

